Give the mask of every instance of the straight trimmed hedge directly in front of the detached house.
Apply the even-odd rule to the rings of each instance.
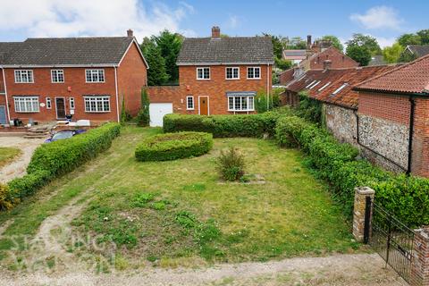
[[[262,137],[274,134],[275,123],[281,114],[268,112],[248,115],[180,115],[164,116],[164,132],[198,131],[219,137]]]

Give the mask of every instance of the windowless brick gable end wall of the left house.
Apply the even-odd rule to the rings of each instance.
[[[125,97],[125,109],[136,116],[140,107],[141,88],[147,85],[147,67],[139,53],[139,47],[134,43],[123,57],[117,72],[120,109],[122,97]]]

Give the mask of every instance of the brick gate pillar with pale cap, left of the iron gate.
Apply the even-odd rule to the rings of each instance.
[[[366,197],[374,199],[374,194],[374,189],[368,187],[355,188],[355,206],[353,210],[353,236],[359,242],[364,241]]]

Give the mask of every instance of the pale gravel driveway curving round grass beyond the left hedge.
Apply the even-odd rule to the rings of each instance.
[[[0,137],[0,147],[17,147],[22,151],[21,156],[0,168],[0,182],[11,181],[23,176],[34,150],[43,143],[45,139],[24,139],[22,137]]]

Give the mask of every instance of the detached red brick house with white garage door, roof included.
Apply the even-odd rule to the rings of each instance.
[[[151,121],[168,113],[249,114],[255,96],[272,89],[273,44],[268,37],[185,38],[178,56],[179,85],[149,87]]]

